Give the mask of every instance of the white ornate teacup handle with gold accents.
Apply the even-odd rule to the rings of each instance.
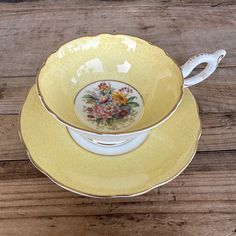
[[[212,54],[201,53],[191,57],[184,65],[181,66],[183,77],[186,78],[193,71],[195,67],[201,63],[207,63],[206,67],[197,75],[186,78],[184,80],[184,87],[190,87],[198,84],[208,78],[217,68],[219,62],[226,55],[226,51],[220,49]]]

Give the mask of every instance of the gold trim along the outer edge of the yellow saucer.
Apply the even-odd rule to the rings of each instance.
[[[32,87],[31,87],[32,88]],[[27,100],[27,97],[29,95],[29,92],[31,90],[31,88],[29,89],[28,93],[27,93],[27,96],[26,96],[26,100]],[[192,95],[192,94],[191,94]],[[192,95],[193,96],[193,95]],[[22,113],[22,110],[23,110],[23,107],[26,103],[26,100],[19,112],[19,115],[18,115],[18,133],[19,133],[19,136],[20,136],[20,140],[21,142],[23,143],[24,147],[25,147],[25,151],[29,157],[29,160],[30,162],[33,164],[33,166],[39,170],[41,173],[43,173],[44,175],[46,175],[52,182],[54,182],[56,185],[70,191],[70,192],[73,192],[75,194],[79,194],[81,196],[85,196],[85,197],[92,197],[92,198],[125,198],[125,197],[136,197],[136,196],[139,196],[139,195],[142,195],[142,194],[145,194],[157,187],[160,187],[164,184],[167,184],[169,183],[170,181],[172,181],[173,179],[175,179],[176,177],[178,177],[186,168],[187,166],[191,163],[191,161],[193,160],[193,157],[195,156],[196,152],[197,152],[197,147],[198,147],[198,142],[199,142],[199,139],[201,137],[201,134],[202,134],[202,123],[201,123],[201,119],[200,119],[200,115],[199,115],[199,106],[198,106],[198,103],[196,102],[194,96],[193,96],[193,99],[194,99],[194,102],[196,104],[196,107],[197,107],[197,114],[198,114],[198,121],[199,121],[199,130],[198,130],[198,136],[197,136],[197,139],[196,139],[196,143],[195,143],[195,148],[193,149],[193,153],[191,155],[191,158],[189,159],[189,161],[183,166],[182,169],[180,169],[175,175],[173,175],[172,177],[168,178],[167,180],[165,181],[162,181],[161,183],[159,184],[155,184],[153,185],[152,187],[149,187],[147,188],[146,190],[143,190],[143,191],[140,191],[140,192],[136,192],[136,193],[132,193],[132,194],[118,194],[118,195],[95,195],[95,194],[89,194],[89,193],[84,193],[84,192],[80,192],[74,188],[70,188],[69,186],[66,186],[64,185],[63,183],[60,183],[59,181],[57,181],[56,179],[54,179],[54,177],[52,177],[49,173],[47,173],[46,171],[44,171],[40,166],[38,166],[38,164],[34,161],[33,157],[31,156],[30,154],[30,151],[24,141],[24,138],[23,138],[23,135],[22,135],[22,132],[21,132],[21,113]]]

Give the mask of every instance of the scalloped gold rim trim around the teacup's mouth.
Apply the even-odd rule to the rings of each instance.
[[[113,132],[113,133],[109,133],[109,132],[99,132],[99,131],[91,131],[89,129],[83,129],[83,128],[79,128],[78,126],[76,125],[73,125],[73,124],[70,124],[68,123],[67,121],[63,120],[55,111],[53,111],[48,105],[47,103],[45,102],[45,99],[42,95],[42,92],[40,90],[40,86],[39,86],[39,74],[41,72],[41,69],[46,65],[47,63],[47,60],[48,58],[52,55],[52,54],[55,54],[58,50],[60,50],[61,47],[63,47],[66,43],[69,43],[73,40],[76,40],[76,39],[85,39],[85,38],[94,38],[94,37],[99,37],[99,36],[102,36],[102,35],[109,35],[109,36],[127,36],[127,37],[133,37],[135,38],[136,40],[142,40],[143,42],[149,44],[150,46],[152,47],[157,47],[157,48],[160,48],[168,58],[170,58],[170,60],[173,61],[173,63],[179,68],[179,71],[180,71],[180,74],[181,74],[181,77],[182,77],[182,84],[181,84],[181,94],[175,104],[175,106],[172,108],[172,110],[166,115],[164,116],[161,120],[159,120],[158,122],[152,124],[152,125],[149,125],[145,128],[140,128],[140,129],[136,129],[136,130],[132,130],[132,131],[122,131],[122,132]],[[98,135],[125,135],[125,134],[131,134],[131,133],[139,133],[139,132],[142,132],[144,130],[149,130],[151,128],[155,128],[157,126],[159,126],[160,124],[162,124],[163,122],[165,122],[168,118],[170,118],[170,116],[177,110],[178,106],[180,105],[182,99],[183,99],[183,89],[184,89],[184,76],[183,76],[183,73],[182,73],[182,70],[180,68],[180,66],[177,64],[176,60],[174,58],[172,58],[163,48],[159,47],[159,46],[156,46],[152,43],[150,43],[149,41],[146,41],[144,39],[141,39],[141,38],[138,38],[138,37],[135,37],[135,36],[132,36],[132,35],[125,35],[125,34],[97,34],[97,35],[94,35],[94,36],[85,36],[85,37],[80,37],[80,38],[75,38],[75,39],[72,39],[71,41],[69,42],[66,42],[65,44],[61,45],[57,50],[55,50],[54,52],[52,52],[48,58],[43,62],[43,64],[38,68],[37,70],[37,74],[36,74],[36,87],[37,87],[37,93],[38,93],[38,96],[40,97],[40,100],[43,104],[43,106],[45,107],[45,109],[54,117],[56,118],[59,122],[61,122],[63,125],[65,126],[68,126],[70,128],[73,128],[73,129],[76,129],[76,130],[79,130],[79,131],[82,131],[82,132],[85,132],[85,133],[90,133],[90,134],[98,134]],[[135,89],[136,90],[136,89]]]

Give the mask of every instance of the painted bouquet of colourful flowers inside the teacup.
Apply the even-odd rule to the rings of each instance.
[[[132,93],[133,89],[129,86],[114,88],[108,82],[101,82],[83,96],[87,119],[99,128],[115,130],[129,125],[137,114],[135,108],[139,107],[137,97]]]

